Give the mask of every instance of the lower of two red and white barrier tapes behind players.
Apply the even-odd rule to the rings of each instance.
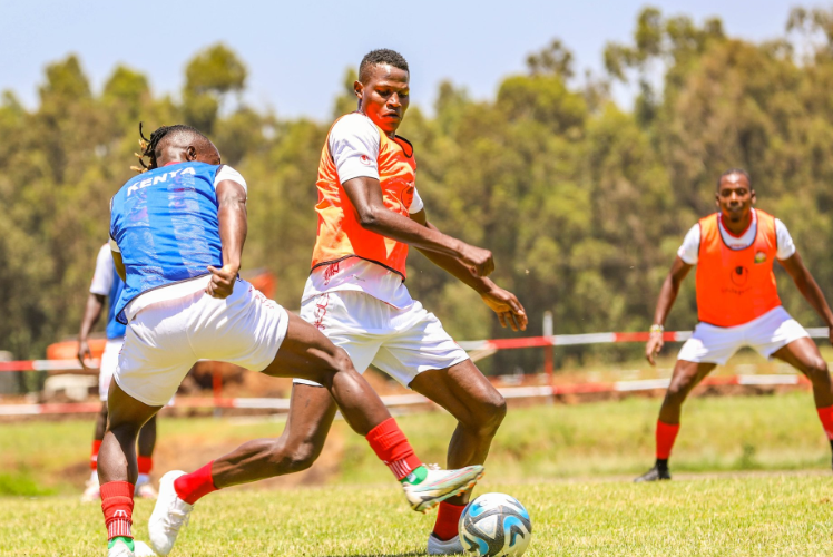
[[[640,392],[666,389],[670,379],[644,379],[636,381],[617,381],[614,383],[577,383],[542,387],[507,387],[498,389],[507,399],[540,399],[565,394],[595,394],[611,392]],[[746,385],[777,387],[798,385],[810,382],[801,375],[734,375],[706,378],[700,385]],[[404,408],[431,402],[421,394],[396,394],[382,397],[382,402],[390,408]],[[174,408],[236,408],[248,410],[288,410],[290,399],[214,399],[214,398],[177,398]],[[45,416],[95,413],[101,409],[99,402],[79,402],[66,404],[0,404],[0,416]]]

